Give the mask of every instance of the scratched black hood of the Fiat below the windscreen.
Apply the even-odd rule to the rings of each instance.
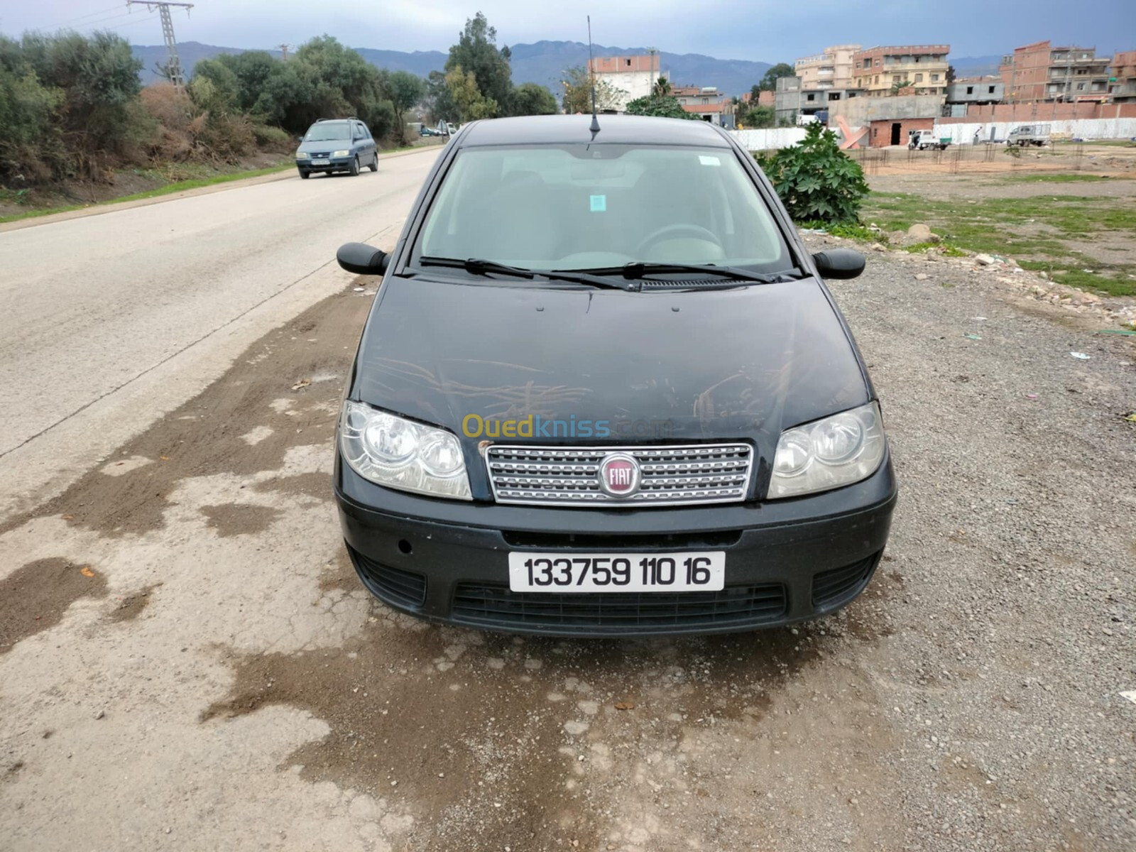
[[[627,293],[390,276],[360,343],[350,396],[453,431],[476,419],[607,421],[533,443],[753,441],[853,408],[870,389],[815,279]],[[620,426],[621,425],[621,426]],[[594,425],[593,425],[594,426]],[[553,427],[554,429],[554,427]]]

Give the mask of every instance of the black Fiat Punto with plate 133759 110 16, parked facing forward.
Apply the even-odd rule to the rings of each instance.
[[[336,435],[362,583],[428,619],[565,636],[832,612],[896,500],[879,402],[753,158],[702,122],[474,122],[383,281]]]

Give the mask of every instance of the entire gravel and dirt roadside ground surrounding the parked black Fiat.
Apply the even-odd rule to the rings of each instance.
[[[868,592],[638,642],[360,590],[327,467],[373,293],[326,300],[0,521],[0,845],[1136,847],[1136,346],[1001,277],[833,284],[901,479]]]

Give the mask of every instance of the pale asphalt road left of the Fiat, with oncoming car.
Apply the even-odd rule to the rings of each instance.
[[[65,487],[393,241],[438,149],[377,173],[254,182],[0,226],[0,517]]]

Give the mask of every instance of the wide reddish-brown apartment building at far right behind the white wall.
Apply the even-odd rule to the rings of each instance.
[[[1095,48],[1054,48],[1046,39],[1014,48],[999,72],[1011,103],[1102,101],[1109,97],[1110,61]]]

